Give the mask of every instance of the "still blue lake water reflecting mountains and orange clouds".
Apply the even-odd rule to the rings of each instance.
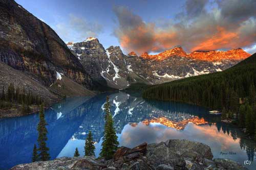
[[[96,156],[99,154],[106,95],[110,96],[120,145],[132,148],[145,141],[188,139],[208,144],[216,158],[233,159],[241,164],[251,160],[250,169],[255,165],[255,143],[245,139],[237,128],[221,123],[219,115],[208,114],[203,107],[145,101],[140,94],[124,92],[67,99],[48,109],[45,117],[49,124],[47,145],[51,159],[72,157],[76,147],[84,155],[84,139],[89,130],[96,141]],[[38,114],[0,119],[0,169],[31,162],[38,120]]]

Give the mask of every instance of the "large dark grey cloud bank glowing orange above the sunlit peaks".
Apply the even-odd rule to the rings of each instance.
[[[115,36],[125,52],[160,52],[181,45],[187,52],[249,47],[256,42],[255,1],[186,1],[175,21],[145,22],[115,6]]]

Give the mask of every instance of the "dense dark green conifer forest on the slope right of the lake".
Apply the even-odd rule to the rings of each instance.
[[[143,98],[177,101],[222,111],[256,139],[256,54],[222,72],[190,77],[147,88]],[[253,60],[252,60],[253,59]]]

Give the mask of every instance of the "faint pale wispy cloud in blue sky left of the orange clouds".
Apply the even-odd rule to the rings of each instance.
[[[97,37],[103,27],[97,22],[70,14],[66,22],[59,22],[54,27],[57,34],[65,41],[83,41],[87,37]]]

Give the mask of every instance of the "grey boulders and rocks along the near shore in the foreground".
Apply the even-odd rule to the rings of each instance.
[[[160,143],[142,143],[130,149],[120,147],[111,160],[94,157],[62,157],[16,165],[12,170],[52,169],[247,169],[239,163],[215,158],[208,145],[189,140],[170,139]]]

